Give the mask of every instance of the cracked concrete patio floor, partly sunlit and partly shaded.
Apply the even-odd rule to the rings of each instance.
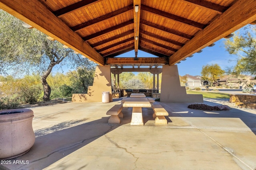
[[[201,111],[188,109],[189,103],[160,103],[169,112],[168,125],[154,124],[152,108],[143,108],[144,126],[129,124],[132,108],[122,110],[120,125],[109,125],[106,111],[120,102],[31,107],[35,144],[0,169],[256,170],[256,109]],[[204,99],[219,103],[227,102]]]

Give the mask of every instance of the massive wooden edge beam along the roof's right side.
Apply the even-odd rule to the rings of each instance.
[[[218,16],[204,30],[188,41],[169,59],[174,65],[197,51],[211,45],[226,35],[240,29],[244,25],[256,20],[255,0],[236,1],[222,15]]]

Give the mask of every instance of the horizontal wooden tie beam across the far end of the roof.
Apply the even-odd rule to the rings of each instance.
[[[108,58],[106,64],[166,64],[164,57],[137,57],[138,60],[134,58],[124,58],[124,57],[115,57]]]

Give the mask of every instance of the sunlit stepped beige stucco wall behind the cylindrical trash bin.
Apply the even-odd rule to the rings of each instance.
[[[102,92],[110,92],[112,102],[110,65],[96,66],[93,85],[88,87],[87,94],[73,94],[72,102],[102,102]]]

